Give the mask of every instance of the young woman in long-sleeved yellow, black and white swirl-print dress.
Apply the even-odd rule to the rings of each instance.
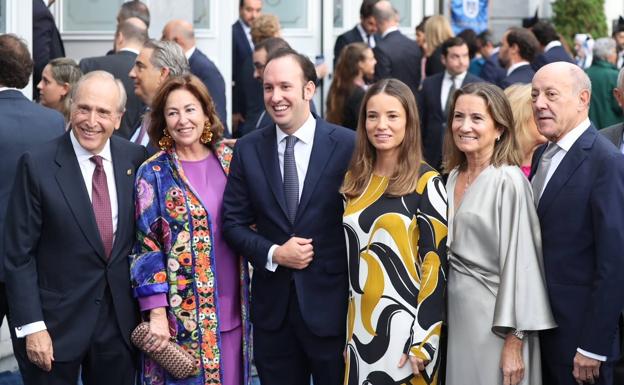
[[[341,192],[349,264],[345,384],[437,384],[446,287],[446,192],[422,159],[412,91],[367,91]]]

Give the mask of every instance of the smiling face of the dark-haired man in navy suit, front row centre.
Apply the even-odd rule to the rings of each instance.
[[[264,68],[264,106],[282,131],[292,134],[310,115],[315,85],[305,82],[303,70],[292,56],[271,60]]]

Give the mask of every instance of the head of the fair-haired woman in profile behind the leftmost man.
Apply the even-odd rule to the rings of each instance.
[[[81,76],[80,67],[73,59],[59,57],[50,60],[37,84],[39,103],[59,111],[68,123],[71,90]]]

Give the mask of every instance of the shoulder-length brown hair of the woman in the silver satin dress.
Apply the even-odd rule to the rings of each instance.
[[[503,90],[489,83],[470,83],[455,91],[453,95],[444,135],[444,172],[449,173],[455,167],[459,167],[460,170],[466,169],[466,154],[457,148],[453,139],[455,104],[462,95],[474,95],[483,99],[488,114],[494,121],[494,127],[501,130],[500,137],[494,142],[491,164],[497,167],[504,164],[520,166],[522,155],[514,134],[513,113]]]

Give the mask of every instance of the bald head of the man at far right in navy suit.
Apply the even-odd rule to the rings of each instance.
[[[531,97],[539,132],[557,142],[587,119],[591,81],[575,64],[550,63],[533,77]]]

